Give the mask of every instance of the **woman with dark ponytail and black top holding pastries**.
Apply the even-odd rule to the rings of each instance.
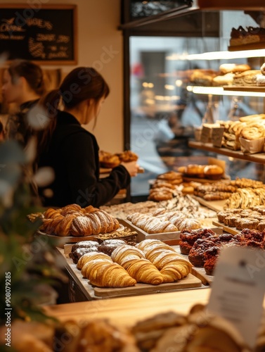
[[[65,77],[58,91],[42,99],[51,123],[39,136],[38,167],[51,167],[55,176],[49,187],[39,189],[44,206],[101,206],[128,187],[131,176],[137,174],[133,161],[99,179],[98,144],[82,125],[97,118],[109,92],[96,70],[81,67]],[[63,111],[58,110],[60,101]]]

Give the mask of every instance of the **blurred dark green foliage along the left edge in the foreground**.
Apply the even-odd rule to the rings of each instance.
[[[13,144],[8,145],[15,153],[18,152]],[[9,160],[6,158],[7,151]],[[27,218],[27,215],[43,209],[32,197],[30,185],[25,182],[23,174],[25,164],[22,167],[20,161],[25,160],[15,158],[7,146],[1,144],[0,306],[3,311],[0,325],[5,322],[6,273],[11,275],[11,285],[8,286],[11,289],[11,320],[20,318],[45,322],[50,319],[43,313],[40,303],[45,301],[47,288],[49,291],[51,285],[55,286],[58,280],[65,279],[56,255],[56,242],[39,237],[36,231],[40,221],[32,223]],[[15,179],[10,177],[14,165],[17,165]]]

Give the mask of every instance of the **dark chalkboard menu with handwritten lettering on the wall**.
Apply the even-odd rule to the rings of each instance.
[[[77,63],[75,5],[0,4],[0,55],[43,64]]]

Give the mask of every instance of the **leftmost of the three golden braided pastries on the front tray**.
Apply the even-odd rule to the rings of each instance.
[[[136,284],[121,265],[113,263],[105,253],[88,253],[90,256],[81,257],[77,265],[82,266],[81,272],[97,287],[130,287]],[[83,259],[82,259],[83,258]]]

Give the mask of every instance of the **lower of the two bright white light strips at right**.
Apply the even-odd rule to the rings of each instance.
[[[238,89],[240,89],[238,87]],[[188,92],[195,94],[213,94],[213,95],[228,95],[228,96],[265,96],[265,92],[243,92],[235,90],[225,90],[223,87],[200,87],[187,86]]]

